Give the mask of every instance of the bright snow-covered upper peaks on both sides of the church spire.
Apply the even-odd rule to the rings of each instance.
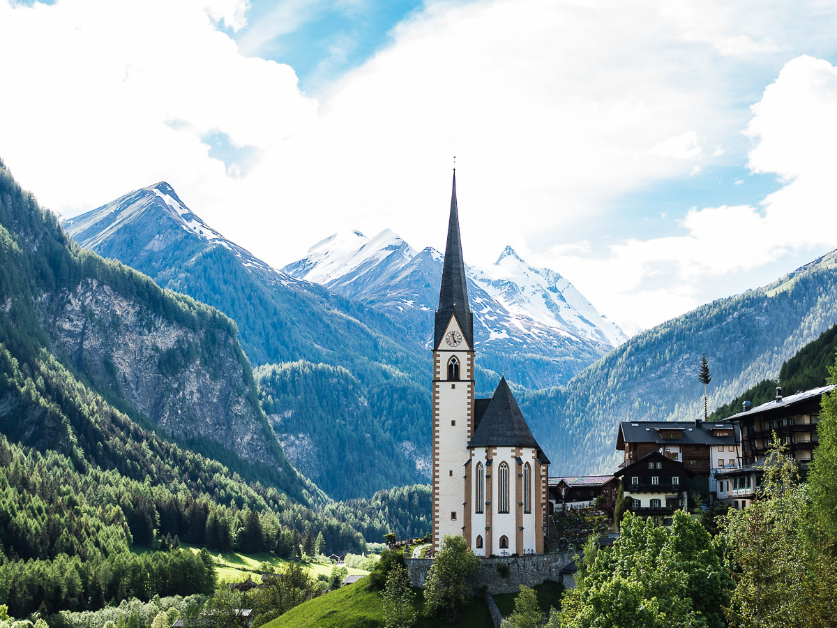
[[[413,250],[390,229],[367,239],[360,232],[335,234],[285,272],[316,281],[350,298],[395,315],[434,310],[444,255]],[[478,343],[503,343],[523,351],[584,343],[603,352],[624,342],[624,333],[604,318],[562,275],[533,268],[506,246],[488,268],[467,268],[468,293],[479,329]],[[557,344],[556,344],[557,343]]]

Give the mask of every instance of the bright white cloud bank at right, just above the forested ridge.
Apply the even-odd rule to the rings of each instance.
[[[752,111],[750,167],[781,176],[786,183],[777,192],[758,206],[694,208],[684,235],[632,239],[610,247],[604,260],[557,256],[551,264],[571,267],[604,311],[649,327],[721,296],[707,287],[717,277],[837,246],[837,68],[807,56],[791,60]],[[665,291],[644,287],[658,281]]]

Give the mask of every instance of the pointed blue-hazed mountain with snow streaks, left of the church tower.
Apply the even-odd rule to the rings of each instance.
[[[308,378],[304,392],[314,400],[360,395],[367,404],[364,416],[390,425],[385,432],[354,426],[360,438],[352,445],[366,463],[351,475],[326,473],[307,445],[314,433],[328,429],[334,414],[317,414],[285,394],[275,394],[270,405],[270,413],[282,417],[273,423],[286,452],[306,469],[322,469],[317,479],[329,495],[369,496],[380,488],[427,481],[429,427],[415,428],[430,416],[424,386],[429,352],[404,342],[398,321],[270,268],[205,224],[167,183],[128,193],[65,221],[64,228],[80,245],[232,317],[254,364],[305,360],[346,369],[348,378]],[[280,368],[271,383],[294,387],[293,381],[280,381],[292,374]]]

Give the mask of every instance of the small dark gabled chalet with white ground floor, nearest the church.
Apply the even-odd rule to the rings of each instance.
[[[629,510],[644,517],[663,517],[666,523],[675,510],[688,509],[689,483],[695,471],[681,461],[652,451],[614,473],[622,480]]]

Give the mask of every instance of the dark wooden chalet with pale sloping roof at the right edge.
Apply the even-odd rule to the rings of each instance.
[[[782,389],[777,388],[776,398],[766,404],[752,408],[745,401],[742,412],[723,420],[724,425],[734,426],[741,432],[743,465],[754,465],[762,459],[776,432],[797,461],[799,470],[807,472],[817,446],[820,404],[823,395],[833,389],[833,385],[821,386],[783,397]]]

